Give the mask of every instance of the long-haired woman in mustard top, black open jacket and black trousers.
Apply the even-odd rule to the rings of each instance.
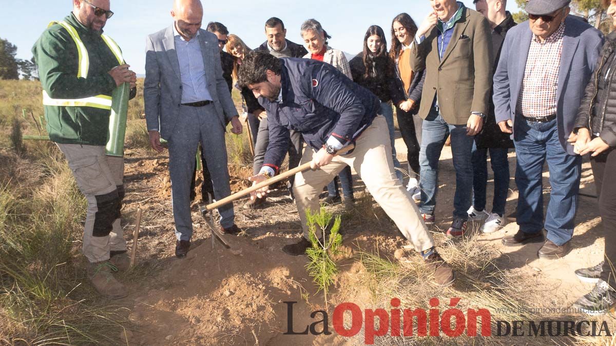
[[[400,134],[407,145],[407,161],[415,175],[419,175],[419,143],[421,143],[421,118],[417,115],[426,72],[415,72],[410,68],[410,47],[415,39],[417,25],[410,15],[402,13],[391,23],[391,49],[389,56],[395,63],[395,73],[402,82],[405,101],[396,109]],[[419,184],[416,177],[408,180],[408,191],[419,199]]]

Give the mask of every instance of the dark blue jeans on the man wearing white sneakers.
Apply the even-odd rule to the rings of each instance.
[[[490,151],[490,166],[494,172],[494,198],[492,212],[503,216],[505,202],[509,190],[509,161],[507,148],[477,148],[472,144],[472,205],[478,211],[485,209],[485,195],[488,184],[488,150]]]

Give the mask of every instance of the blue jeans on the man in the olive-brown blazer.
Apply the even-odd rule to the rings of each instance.
[[[466,212],[471,207],[471,151],[475,137],[466,135],[466,124],[447,124],[434,107],[432,107],[422,125],[421,150],[419,150],[419,166],[421,166],[419,210],[424,214],[434,214],[439,180],[440,152],[450,134],[452,136],[453,169],[456,172],[453,217],[467,220],[468,214]]]

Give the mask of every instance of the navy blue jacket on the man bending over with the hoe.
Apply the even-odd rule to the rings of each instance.
[[[328,143],[353,142],[381,110],[378,97],[330,64],[312,59],[280,58],[282,100],[259,97],[267,110],[269,145],[264,166],[278,171],[289,147],[290,132],[301,132],[314,150]]]

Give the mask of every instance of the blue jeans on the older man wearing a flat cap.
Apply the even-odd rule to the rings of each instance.
[[[556,119],[549,123],[527,121],[517,116],[514,124],[517,166],[517,224],[525,233],[543,227],[548,239],[561,246],[573,236],[578,206],[582,156],[569,155],[558,139]],[[548,161],[548,212],[543,224],[543,164]]]

